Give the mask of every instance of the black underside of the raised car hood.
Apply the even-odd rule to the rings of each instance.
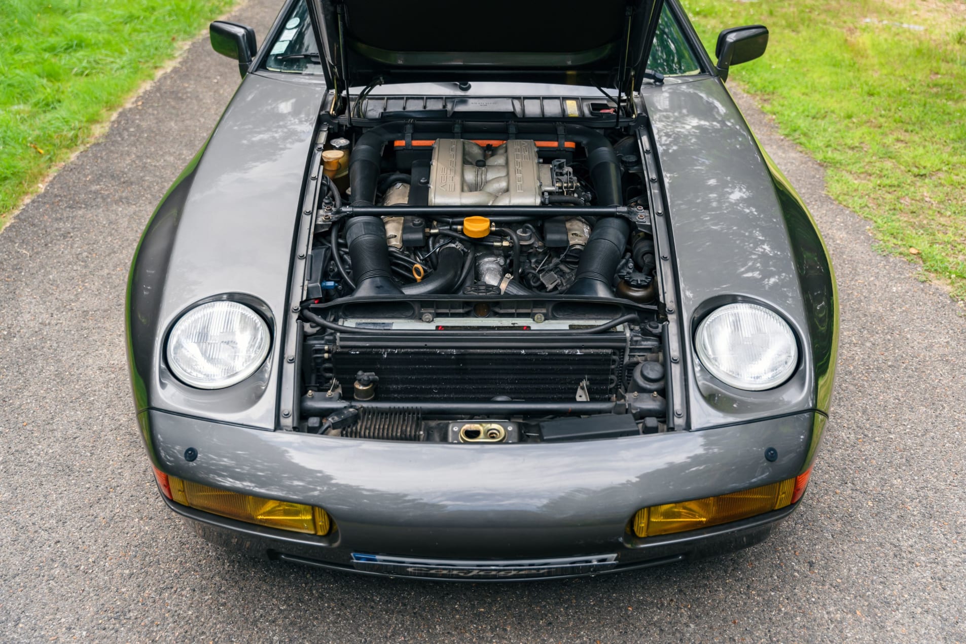
[[[519,81],[627,90],[664,0],[310,0],[330,82]]]

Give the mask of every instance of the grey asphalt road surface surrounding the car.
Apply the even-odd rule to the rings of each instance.
[[[264,34],[278,0],[235,16]],[[829,243],[833,423],[771,540],[638,574],[383,580],[247,559],[157,498],[125,360],[148,216],[239,82],[195,42],[0,235],[0,640],[966,641],[966,322],[740,98]],[[214,242],[215,240],[213,240]]]

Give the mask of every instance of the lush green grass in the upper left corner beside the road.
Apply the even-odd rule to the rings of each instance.
[[[0,0],[0,229],[233,0]]]

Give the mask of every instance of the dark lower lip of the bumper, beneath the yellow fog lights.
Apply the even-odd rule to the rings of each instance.
[[[175,503],[163,494],[160,496],[165,504],[176,514],[190,521],[213,528],[222,537],[231,538],[232,543],[230,547],[246,551],[249,554],[261,554],[272,560],[323,568],[340,573],[421,581],[471,583],[550,581],[554,579],[625,573],[677,563],[688,559],[699,559],[723,554],[728,551],[753,546],[764,541],[771,534],[772,528],[794,512],[798,508],[799,503],[801,503],[800,499],[781,510],[775,510],[756,517],[663,537],[639,539],[633,535],[625,534],[621,542],[623,547],[617,553],[617,563],[610,568],[569,574],[520,574],[518,576],[493,577],[480,575],[433,576],[428,574],[391,574],[383,571],[355,568],[353,566],[353,548],[342,544],[337,529],[327,538],[287,533],[282,530],[264,528],[235,519],[223,518],[207,512],[194,510],[193,508]],[[242,537],[247,540],[244,546],[241,546],[241,542],[236,539],[237,537]],[[226,544],[222,542],[222,545]],[[588,554],[587,556],[593,557],[594,554]]]

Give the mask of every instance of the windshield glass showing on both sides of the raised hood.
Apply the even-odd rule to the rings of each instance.
[[[661,20],[647,68],[666,76],[693,74],[701,70],[694,50],[667,5],[661,11]],[[292,13],[286,18],[285,28],[275,42],[271,43],[265,69],[289,73],[323,73],[319,49],[312,34],[311,18],[304,0],[295,4]]]

